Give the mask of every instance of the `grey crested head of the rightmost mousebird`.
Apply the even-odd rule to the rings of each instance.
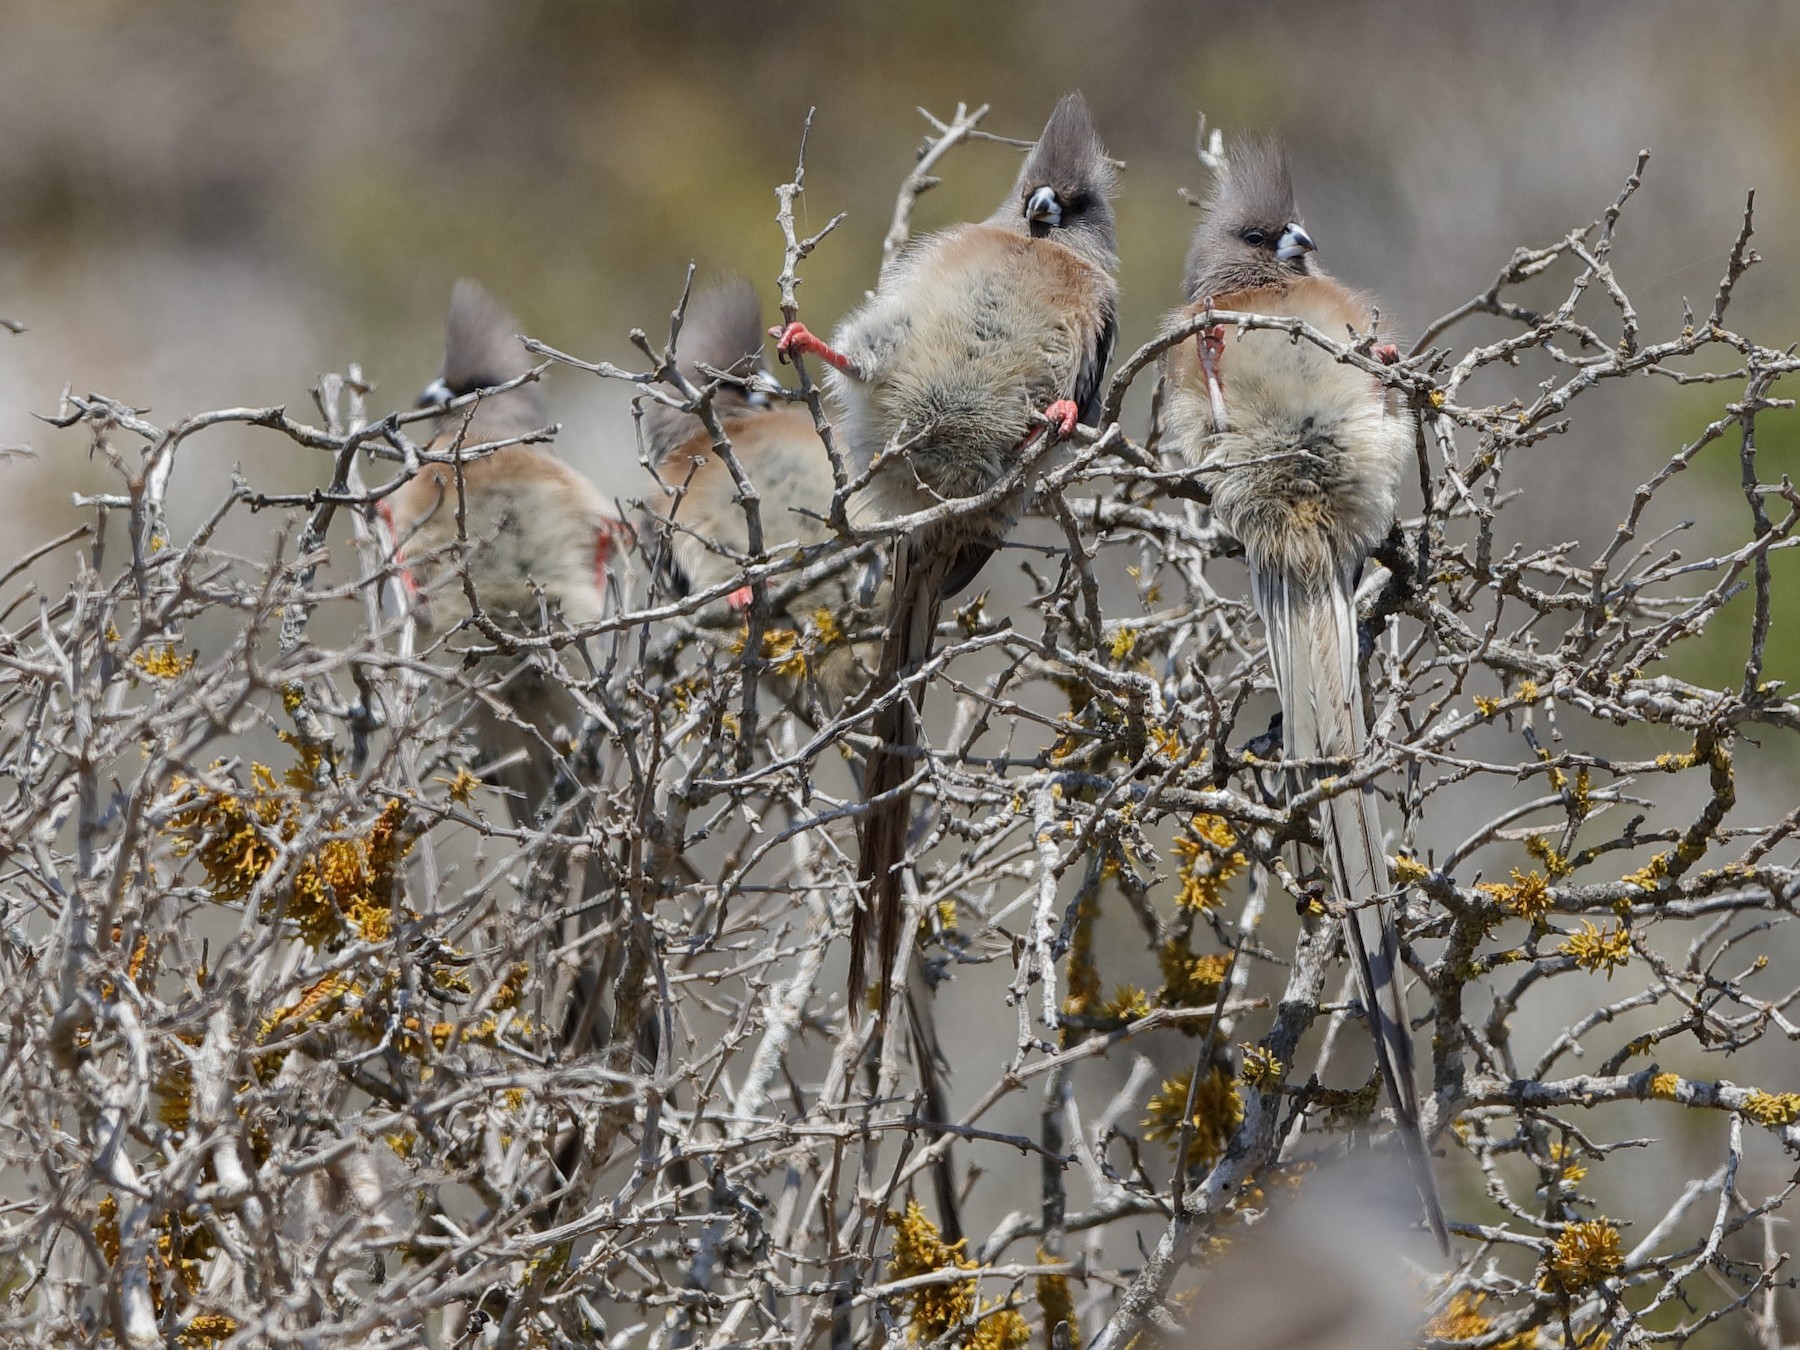
[[[1206,214],[1193,230],[1188,301],[1312,275],[1312,247],[1282,148],[1273,140],[1238,140],[1226,153]]]

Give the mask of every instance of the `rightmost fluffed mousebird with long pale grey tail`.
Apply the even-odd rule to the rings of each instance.
[[[1303,319],[1336,338],[1368,333],[1370,299],[1321,272],[1312,254],[1282,151],[1238,144],[1219,166],[1188,254],[1188,304],[1170,322],[1188,324],[1211,308]],[[1393,347],[1373,351],[1397,358]],[[1413,443],[1409,423],[1390,414],[1368,371],[1285,331],[1202,329],[1168,351],[1165,378],[1168,436],[1210,470],[1213,511],[1249,558],[1287,758],[1361,758],[1355,583],[1363,560],[1393,526],[1400,466]],[[1310,787],[1327,772],[1343,770],[1307,767],[1292,781]],[[1327,797],[1321,835],[1381,1076],[1431,1229],[1447,1244],[1418,1123],[1375,790]]]

